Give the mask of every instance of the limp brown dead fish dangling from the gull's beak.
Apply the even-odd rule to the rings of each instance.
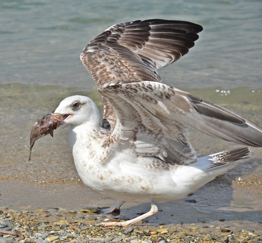
[[[35,122],[30,134],[29,160],[31,159],[32,147],[34,146],[35,141],[47,134],[50,134],[53,137],[54,130],[61,124],[63,115],[53,112],[43,116]]]

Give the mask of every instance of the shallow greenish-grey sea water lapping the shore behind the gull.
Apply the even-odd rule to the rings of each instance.
[[[160,70],[163,82],[232,109],[261,126],[261,8],[260,1],[244,0],[161,3],[155,0],[1,1],[0,179],[4,181],[1,180],[0,193],[5,201],[0,200],[0,205],[17,203],[20,198],[23,200],[20,205],[26,206],[28,197],[12,199],[13,183],[21,185],[28,195],[33,191],[36,197],[40,197],[37,191],[48,193],[49,186],[57,186],[63,191],[62,187],[72,184],[71,190],[84,190],[66,142],[67,128],[56,130],[53,139],[46,136],[38,140],[31,161],[28,161],[29,135],[37,118],[54,110],[70,95],[90,96],[102,112],[99,93],[79,55],[91,39],[116,23],[161,18],[203,25],[200,39],[190,52]],[[190,141],[200,156],[237,147],[190,132]],[[259,206],[261,208],[261,158],[261,149],[252,148],[251,158],[196,193],[196,200],[201,204],[188,204],[182,200],[164,203],[161,207],[170,214],[190,207],[192,210],[184,218],[205,212],[212,218],[215,212],[222,210],[223,213],[221,208],[238,212],[236,208],[251,207],[248,210],[242,208],[246,213],[241,214],[242,220],[251,220]],[[34,184],[36,190],[30,184]],[[46,186],[42,187],[42,184]],[[211,188],[219,190],[212,191]],[[216,200],[216,196],[222,200]],[[92,198],[86,204],[82,203],[83,206],[101,200],[96,194],[92,194]],[[211,209],[209,202],[214,205]],[[65,199],[59,205],[69,207],[72,204]],[[148,206],[145,207],[146,211]],[[183,215],[186,212],[182,210],[181,218],[178,216],[177,220],[182,220]],[[237,218],[239,214],[228,215]]]

